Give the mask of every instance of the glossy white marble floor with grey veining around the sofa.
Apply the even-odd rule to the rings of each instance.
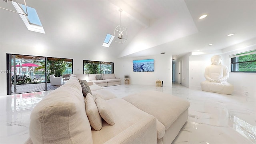
[[[256,144],[255,96],[224,95],[172,87],[109,86],[122,98],[156,90],[190,102],[188,121],[173,144]],[[29,117],[34,106],[51,91],[0,96],[0,144],[23,144],[29,137]]]

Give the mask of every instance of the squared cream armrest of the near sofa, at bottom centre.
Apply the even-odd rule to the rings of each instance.
[[[104,144],[156,144],[156,118],[148,115]]]

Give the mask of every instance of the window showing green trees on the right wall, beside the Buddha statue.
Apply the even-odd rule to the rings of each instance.
[[[230,56],[231,72],[256,72],[256,50]]]

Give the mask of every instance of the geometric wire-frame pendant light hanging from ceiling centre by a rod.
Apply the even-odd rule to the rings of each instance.
[[[114,41],[119,43],[124,43],[128,40],[127,30],[125,27],[121,26],[121,12],[123,10],[119,9],[120,12],[120,25],[118,25],[114,31]]]

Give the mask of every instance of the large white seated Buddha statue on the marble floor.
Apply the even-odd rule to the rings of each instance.
[[[201,82],[203,91],[220,94],[232,94],[234,86],[227,82],[229,78],[228,67],[221,64],[221,56],[212,56],[212,64],[204,72],[206,80]]]

